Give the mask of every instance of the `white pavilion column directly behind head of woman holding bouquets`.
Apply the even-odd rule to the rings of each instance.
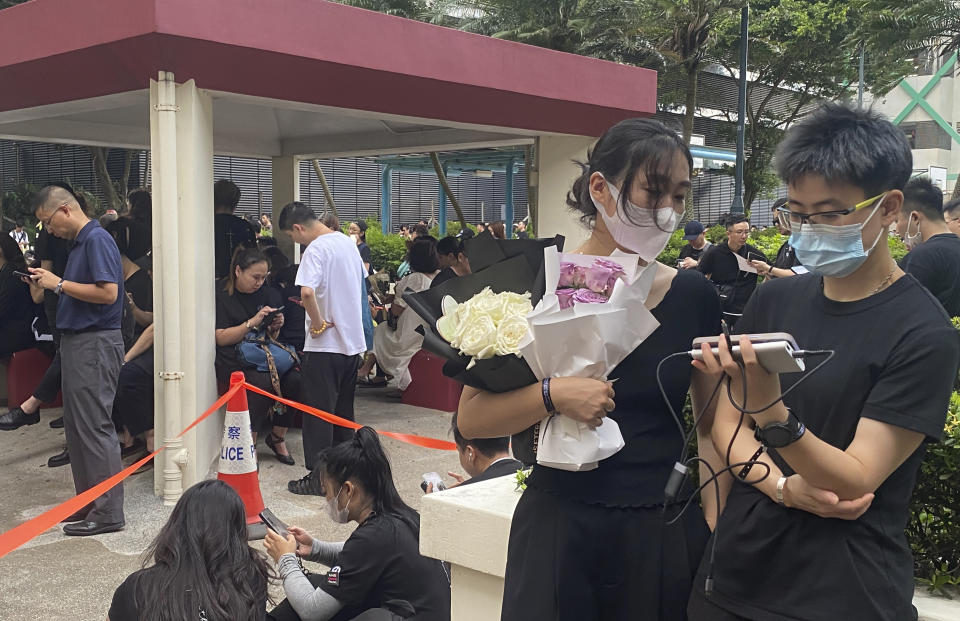
[[[587,149],[596,138],[582,136],[540,136],[537,138],[537,236],[563,235],[564,249],[572,250],[588,236],[589,230],[567,208],[567,192],[580,169],[573,160],[586,161]]]

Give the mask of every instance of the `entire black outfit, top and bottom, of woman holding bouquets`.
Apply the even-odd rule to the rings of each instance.
[[[680,270],[652,310],[660,327],[618,366],[617,409],[626,446],[595,470],[535,466],[513,517],[503,621],[682,621],[708,529],[694,502],[675,525],[664,486],[683,447],[655,379],[657,364],[719,333],[720,303],[700,273]],[[676,412],[689,359],[664,365]],[[681,495],[685,497],[685,495]],[[674,515],[679,507],[668,511]]]

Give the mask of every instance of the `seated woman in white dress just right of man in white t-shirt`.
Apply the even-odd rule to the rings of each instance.
[[[373,333],[373,353],[357,371],[361,383],[378,386],[387,383],[385,377],[369,379],[373,365],[376,364],[381,374],[395,378],[400,390],[406,390],[410,385],[411,377],[407,367],[423,344],[423,335],[416,331],[423,320],[416,313],[407,312],[407,304],[403,301],[402,294],[407,289],[420,292],[430,288],[433,277],[440,269],[437,240],[429,235],[418,237],[410,244],[409,258],[411,272],[397,282],[396,298],[390,305],[390,321],[377,326]]]

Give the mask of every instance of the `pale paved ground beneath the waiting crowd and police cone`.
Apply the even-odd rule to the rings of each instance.
[[[70,468],[50,469],[46,465],[47,458],[63,446],[63,431],[47,425],[59,415],[59,410],[45,410],[38,425],[0,432],[0,532],[73,495]],[[449,414],[402,405],[378,390],[358,396],[357,420],[384,430],[452,439]],[[259,444],[260,487],[265,504],[288,523],[302,526],[317,537],[342,541],[353,525],[332,523],[319,498],[286,491],[287,481],[305,472],[300,433],[291,430],[288,437],[296,466],[280,464],[262,441]],[[419,448],[389,438],[384,438],[384,446],[401,496],[416,509],[424,472],[460,471],[454,452]],[[123,532],[71,538],[54,528],[0,559],[0,619],[105,619],[114,589],[140,567],[141,553],[171,510],[153,495],[152,471],[127,479],[125,494],[127,528]],[[259,547],[260,543],[254,545]]]

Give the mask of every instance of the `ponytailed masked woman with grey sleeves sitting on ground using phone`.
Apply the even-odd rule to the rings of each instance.
[[[317,541],[296,526],[267,531],[287,599],[273,621],[449,621],[450,581],[440,561],[420,555],[420,516],[393,485],[390,462],[370,427],[327,449],[312,475],[331,519],[356,522],[343,543]],[[303,557],[331,569],[305,575]]]

